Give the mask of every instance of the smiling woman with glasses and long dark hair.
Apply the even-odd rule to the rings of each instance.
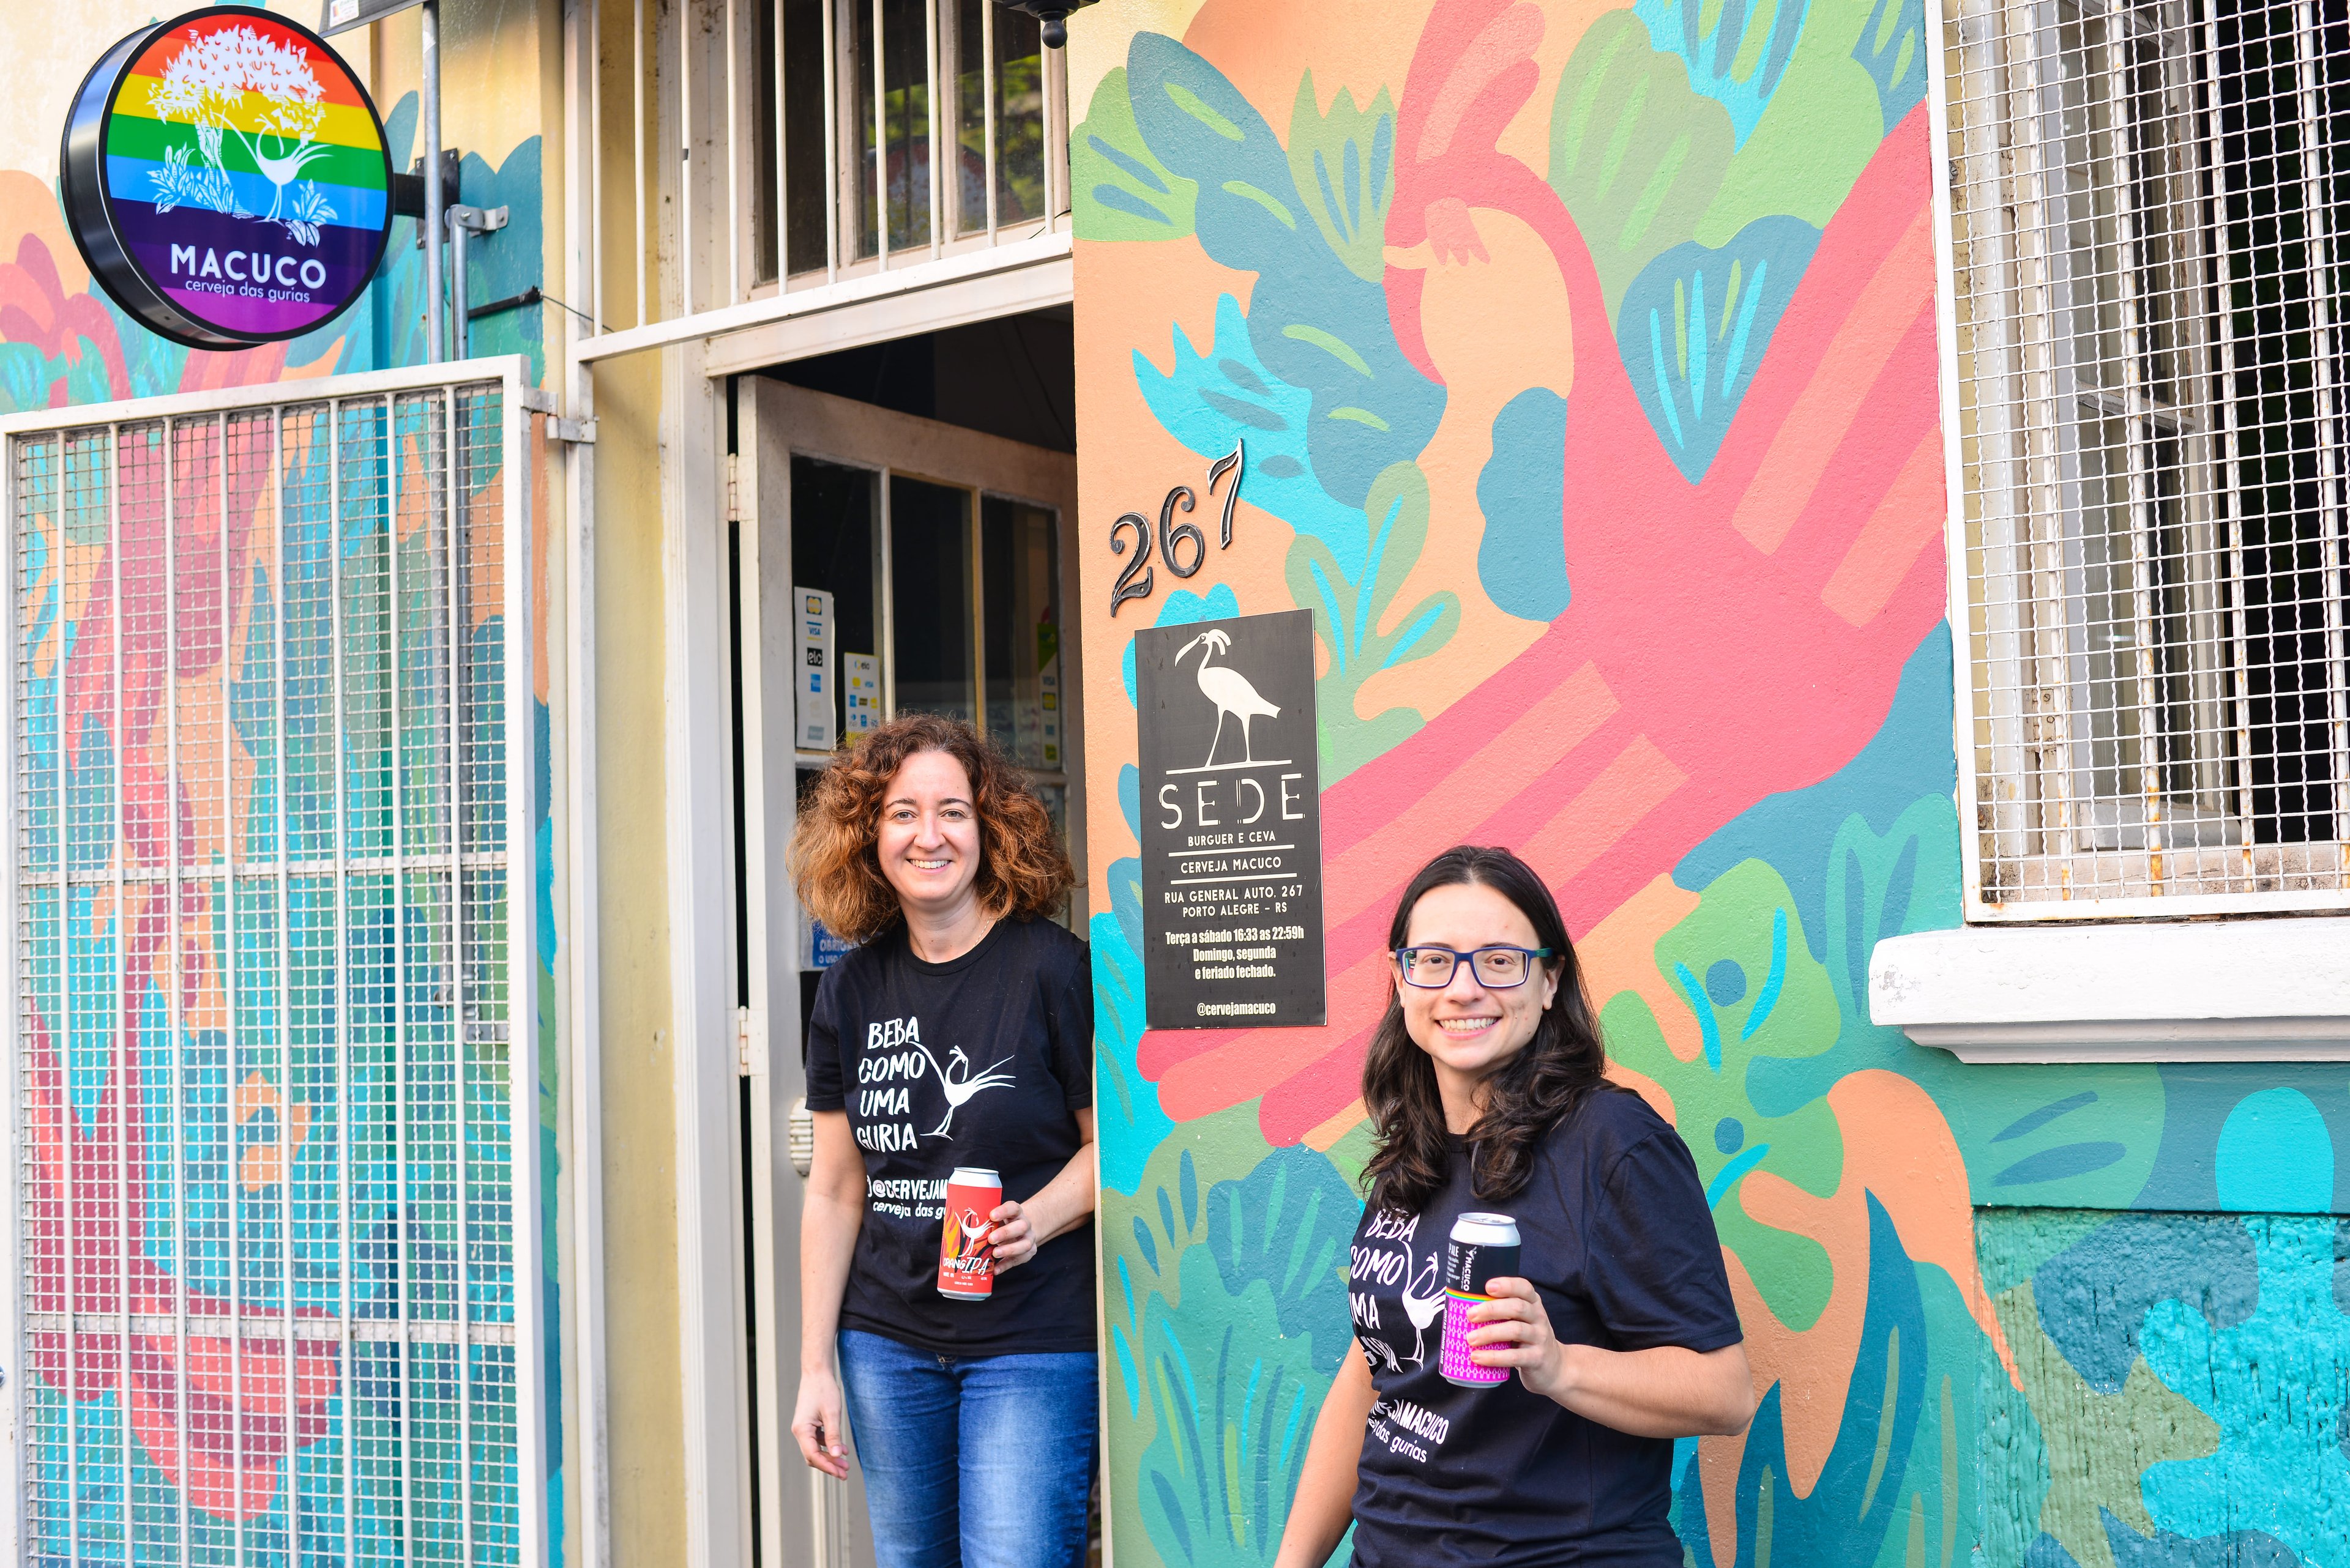
[[[1394,994],[1363,1063],[1375,1152],[1354,1237],[1356,1347],[1323,1399],[1276,1568],[1680,1568],[1673,1439],[1744,1432],[1753,1378],[1680,1135],[1607,1084],[1558,903],[1504,849],[1450,849],[1403,891]],[[1523,1276],[1469,1307],[1438,1371],[1445,1239],[1518,1225]],[[1457,1309],[1457,1307],[1452,1307]]]

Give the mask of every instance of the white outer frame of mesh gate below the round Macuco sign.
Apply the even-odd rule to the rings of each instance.
[[[284,409],[296,404],[317,402],[341,402],[352,397],[376,397],[395,393],[418,393],[418,390],[458,390],[494,383],[501,390],[501,482],[503,482],[503,510],[505,510],[505,574],[501,583],[501,614],[505,618],[505,670],[503,675],[503,701],[505,701],[505,875],[508,875],[508,912],[505,912],[505,983],[508,983],[508,1016],[503,1020],[508,1039],[508,1114],[512,1128],[512,1164],[510,1164],[510,1227],[512,1227],[512,1345],[515,1345],[515,1486],[517,1486],[517,1556],[524,1566],[536,1566],[548,1561],[548,1380],[545,1380],[545,1237],[540,1234],[540,1201],[543,1201],[543,1171],[538,1161],[538,865],[536,865],[536,823],[531,818],[536,788],[533,769],[536,764],[536,741],[533,741],[533,649],[538,639],[538,628],[533,623],[533,550],[531,550],[531,491],[536,484],[531,465],[531,407],[536,400],[529,381],[529,364],[522,355],[482,357],[465,360],[456,364],[430,364],[418,369],[388,369],[388,371],[364,371],[350,376],[329,376],[322,381],[284,381],[284,383],[261,383],[249,388],[233,388],[221,393],[179,393],[167,397],[143,397],[143,400],[120,400],[103,404],[80,404],[66,409],[35,409],[28,414],[14,414],[0,418],[0,578],[5,578],[5,607],[0,607],[0,623],[5,623],[7,654],[0,658],[0,731],[5,731],[5,748],[0,748],[0,839],[5,839],[5,853],[0,853],[0,893],[5,893],[7,919],[0,922],[5,933],[0,933],[0,952],[7,959],[9,976],[9,1006],[5,1009],[5,1020],[0,1020],[0,1051],[5,1051],[5,1067],[0,1067],[0,1079],[5,1079],[5,1093],[0,1093],[0,1157],[5,1157],[7,1180],[5,1194],[0,1194],[0,1258],[14,1272],[21,1267],[21,1239],[24,1239],[24,1128],[21,1117],[21,1086],[19,1067],[24,1063],[24,1039],[21,1039],[21,933],[19,933],[19,785],[16,785],[16,661],[19,661],[19,583],[16,583],[16,461],[14,442],[16,437],[47,433],[47,430],[82,430],[89,425],[122,425],[122,423],[146,423],[160,418],[183,418],[204,414],[237,414],[251,409]],[[273,498],[273,512],[277,498]],[[341,654],[338,654],[341,656]],[[120,811],[120,806],[118,806]],[[280,856],[280,867],[284,858]],[[176,875],[176,872],[174,872]],[[176,1081],[176,1079],[174,1079]],[[174,1124],[174,1138],[179,1128]],[[345,1246],[350,1239],[345,1239]],[[183,1291],[186,1293],[186,1291]],[[348,1298],[345,1298],[348,1300]],[[70,1312],[70,1305],[68,1305]],[[179,1316],[181,1342],[186,1342],[186,1312]],[[21,1347],[26,1335],[24,1300],[14,1284],[0,1291],[0,1373],[7,1375],[7,1387],[0,1389],[0,1561],[24,1561],[28,1542],[24,1537],[24,1436],[26,1436],[26,1368],[21,1361]],[[249,1338],[242,1331],[247,1321],[244,1312],[235,1319],[240,1328],[237,1338]],[[268,1316],[258,1321],[270,1321]],[[289,1319],[277,1319],[289,1321]],[[343,1366],[345,1366],[345,1399],[348,1399],[348,1368],[350,1368],[350,1314],[341,1319],[343,1335]],[[402,1342],[407,1342],[407,1321],[402,1324]],[[129,1331],[129,1319],[125,1319],[125,1333]],[[458,1331],[458,1342],[475,1342],[470,1321]],[[214,1331],[216,1333],[216,1331]],[[289,1338],[291,1328],[284,1331]],[[303,1335],[306,1338],[306,1335]],[[348,1406],[345,1406],[348,1410]],[[186,1422],[186,1410],[181,1410]],[[407,1420],[407,1415],[404,1415]],[[345,1413],[348,1422],[348,1413]],[[125,1443],[136,1441],[125,1432]],[[345,1425],[345,1443],[350,1443]],[[465,1455],[472,1462],[472,1455]],[[181,1516],[190,1512],[186,1505],[186,1481],[181,1481]],[[470,1495],[470,1490],[468,1490]],[[468,1502],[468,1549],[475,1544],[470,1540],[472,1509]],[[244,1554],[244,1535],[237,1530],[240,1556]],[[68,1561],[80,1561],[70,1556]]]

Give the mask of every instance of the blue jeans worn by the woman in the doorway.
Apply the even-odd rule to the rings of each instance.
[[[879,1568],[1074,1568],[1100,1359],[940,1356],[841,1331],[848,1434]]]

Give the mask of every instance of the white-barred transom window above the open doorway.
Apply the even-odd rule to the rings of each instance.
[[[592,315],[649,327],[1069,228],[1067,68],[994,0],[590,0]],[[618,162],[620,167],[613,167]],[[613,266],[618,263],[618,266]],[[630,268],[632,275],[623,273]]]

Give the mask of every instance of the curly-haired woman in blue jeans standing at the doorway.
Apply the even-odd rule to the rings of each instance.
[[[792,835],[799,898],[858,943],[808,1025],[792,1434],[865,1469],[881,1568],[1076,1563],[1093,1483],[1093,980],[1076,882],[968,724],[891,719]],[[992,1168],[994,1293],[938,1291],[947,1173]],[[839,1378],[834,1378],[839,1352]]]

